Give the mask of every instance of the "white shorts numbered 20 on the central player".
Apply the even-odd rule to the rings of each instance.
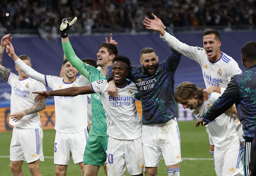
[[[144,168],[142,137],[134,140],[118,140],[109,137],[107,150],[108,176],[122,176],[126,169],[130,175],[139,175]]]

